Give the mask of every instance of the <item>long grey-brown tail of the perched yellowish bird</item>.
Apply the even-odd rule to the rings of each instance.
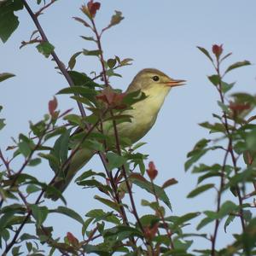
[[[64,170],[61,170],[62,177],[55,178],[55,181],[51,185],[62,193],[65,189],[67,189],[67,186],[69,183],[71,183],[77,172],[79,172],[79,170],[91,159],[93,154],[94,152],[88,148],[80,149],[76,154],[73,155],[69,165],[65,167]],[[46,193],[45,197],[50,198],[53,201],[60,198],[60,196],[55,193]]]

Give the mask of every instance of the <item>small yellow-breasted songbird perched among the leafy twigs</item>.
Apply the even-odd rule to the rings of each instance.
[[[123,112],[125,115],[131,116],[131,122],[123,122],[117,125],[119,137],[127,137],[131,143],[137,143],[143,138],[154,125],[158,113],[165,102],[166,96],[173,87],[185,84],[183,79],[172,79],[166,73],[155,68],[145,68],[141,70],[125,91],[126,94],[141,90],[146,96],[142,101],[135,102],[131,109]],[[108,136],[114,135],[113,121],[103,123],[103,131]],[[79,170],[95,154],[95,151],[90,148],[81,148],[70,160],[66,169],[63,170],[65,178],[56,181],[53,186],[61,191],[67,188],[73,177]],[[57,200],[57,196],[49,196],[53,200]]]

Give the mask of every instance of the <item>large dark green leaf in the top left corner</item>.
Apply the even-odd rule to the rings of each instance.
[[[21,0],[5,1],[0,3],[0,38],[5,43],[19,26],[16,10],[23,9]]]

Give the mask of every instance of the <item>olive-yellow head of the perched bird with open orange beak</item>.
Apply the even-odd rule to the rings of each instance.
[[[145,68],[132,80],[128,91],[142,90],[146,95],[165,93],[167,94],[172,87],[180,86],[185,80],[171,79],[158,69]]]

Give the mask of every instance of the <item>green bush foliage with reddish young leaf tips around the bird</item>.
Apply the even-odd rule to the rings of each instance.
[[[55,2],[56,0],[48,3],[38,0],[37,12],[32,11],[26,0],[5,0],[0,3],[0,38],[3,43],[19,27],[15,12],[26,9],[37,29],[32,32],[30,40],[23,41],[20,47],[35,44],[39,53],[55,61],[58,72],[69,85],[58,94],[70,96],[71,100],[77,102],[80,111],[78,115],[71,110],[59,110],[54,97],[49,101],[49,113],[44,115],[44,119],[35,124],[30,123],[29,133],[20,134],[14,144],[7,148],[12,152],[11,159],[5,156],[1,148],[0,247],[3,255],[255,255],[256,219],[253,218],[253,196],[256,193],[256,116],[253,111],[256,97],[246,92],[232,92],[236,84],[225,80],[227,73],[250,65],[250,62],[238,61],[225,67],[224,61],[230,58],[231,53],[225,54],[222,45],[214,44],[209,51],[198,47],[206,55],[207,61],[212,63],[213,73],[208,79],[212,88],[218,92],[219,111],[212,114],[211,121],[200,124],[209,131],[209,137],[195,143],[195,147],[187,155],[184,168],[195,173],[198,180],[188,198],[198,197],[200,200],[201,193],[212,189],[212,196],[217,198],[216,208],[215,211],[188,212],[183,216],[173,216],[168,210],[172,206],[166,195],[166,188],[175,185],[177,180],[170,178],[163,184],[156,184],[154,178],[158,172],[154,162],[144,166],[147,155],[138,151],[143,143],[127,148],[129,138],[119,137],[117,129],[114,137],[108,137],[101,129],[95,129],[106,119],[113,122],[113,127],[129,121],[131,117],[122,114],[122,110],[132,108],[134,102],[144,99],[139,91],[125,94],[113,90],[108,82],[111,77],[119,76],[119,68],[131,65],[132,61],[130,58],[121,60],[118,56],[106,60],[103,55],[102,35],[123,20],[122,13],[115,11],[109,24],[99,30],[95,17],[101,4],[90,0],[82,5],[82,18],[74,17],[74,20],[90,31],[90,35],[82,38],[94,42],[95,48],[81,49],[64,64],[55,54],[55,47],[50,44],[39,23],[39,15]],[[96,56],[102,72],[88,76],[76,71],[76,61],[81,55]],[[12,73],[0,73],[0,82],[4,83],[4,80],[13,76],[15,75]],[[85,108],[90,109],[92,114],[88,115]],[[4,125],[4,119],[0,119],[0,129]],[[85,135],[73,135],[73,131],[77,129],[86,131]],[[73,139],[79,143],[70,153]],[[84,143],[85,139],[90,143]],[[107,141],[112,141],[114,147],[106,147]],[[61,191],[52,185],[58,179],[65,179],[65,173],[61,172],[63,166],[67,166],[74,152],[83,147],[93,149],[100,155],[104,169],[104,172],[83,172],[75,180],[83,188],[96,188],[98,193],[94,198],[102,203],[102,209],[85,212],[85,217],[67,207]],[[216,150],[222,157],[211,166],[204,164],[202,157]],[[13,167],[16,159],[22,161],[19,168]],[[38,166],[43,159],[49,161],[49,166],[54,171],[49,183],[26,172],[28,166]],[[138,214],[132,193],[133,186],[154,195],[153,201],[141,201],[143,207],[150,208],[151,214]],[[223,196],[225,191],[230,191],[233,195],[227,201]],[[44,195],[55,195],[61,206],[50,208],[50,199],[45,199]],[[55,226],[44,224],[52,213],[64,214],[78,222],[82,239],[73,236],[71,232],[55,237]],[[183,227],[194,218],[193,223],[197,223],[196,232],[185,232]],[[226,231],[236,218],[239,219],[241,233],[234,234],[231,244],[217,249],[216,241],[219,230],[222,229],[220,223],[224,222]],[[212,232],[202,233],[203,228],[211,223]],[[33,233],[26,232],[27,224],[33,225]],[[193,246],[198,237],[207,240],[208,249]]]

